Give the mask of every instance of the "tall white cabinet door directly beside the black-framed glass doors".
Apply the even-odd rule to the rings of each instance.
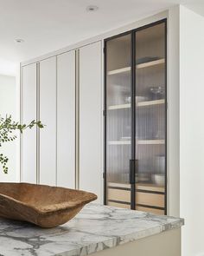
[[[101,43],[80,49],[80,189],[102,197]]]

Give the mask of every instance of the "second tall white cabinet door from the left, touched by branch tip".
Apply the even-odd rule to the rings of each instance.
[[[56,57],[40,62],[40,184],[56,185]]]

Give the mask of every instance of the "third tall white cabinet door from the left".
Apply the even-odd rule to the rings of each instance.
[[[57,56],[57,186],[75,187],[75,50]]]

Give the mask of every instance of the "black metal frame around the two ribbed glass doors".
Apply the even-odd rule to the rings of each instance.
[[[167,18],[144,25],[135,30],[126,31],[122,34],[108,37],[104,41],[104,204],[106,205],[106,43],[114,38],[131,34],[131,160],[130,160],[130,183],[131,183],[131,209],[136,208],[136,186],[135,186],[135,171],[136,171],[136,35],[137,31],[145,30],[157,24],[165,24],[165,204],[164,213],[167,214]]]

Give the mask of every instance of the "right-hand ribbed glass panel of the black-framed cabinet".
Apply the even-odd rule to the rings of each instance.
[[[136,40],[136,209],[163,214],[166,187],[166,31],[158,23]]]

